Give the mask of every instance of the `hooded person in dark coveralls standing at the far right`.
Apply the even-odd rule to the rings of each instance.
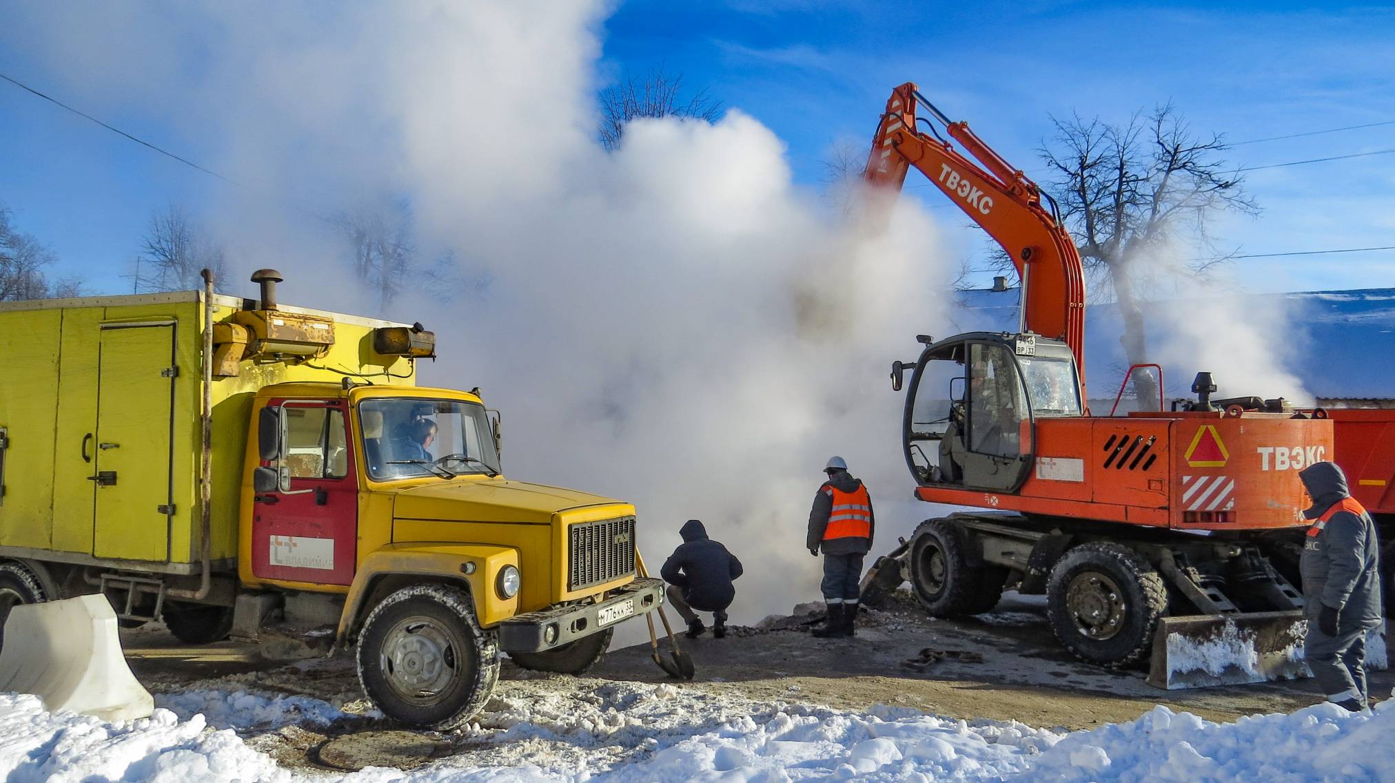
[[[1309,631],[1304,658],[1327,701],[1352,712],[1368,706],[1366,631],[1381,624],[1381,564],[1375,524],[1346,489],[1334,463],[1299,474],[1313,520],[1299,563]]]

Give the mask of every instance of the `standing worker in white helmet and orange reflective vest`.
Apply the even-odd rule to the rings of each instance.
[[[872,517],[872,496],[859,479],[848,472],[843,457],[831,457],[823,472],[823,482],[813,496],[809,511],[809,552],[823,553],[823,603],[829,619],[813,635],[851,637],[858,619],[858,581],[862,577],[862,557],[872,549],[876,520]]]

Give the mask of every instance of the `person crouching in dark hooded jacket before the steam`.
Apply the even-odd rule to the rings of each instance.
[[[698,612],[711,612],[711,635],[720,639],[727,635],[727,607],[737,598],[732,582],[741,575],[741,560],[707,538],[698,520],[684,522],[678,534],[684,542],[658,571],[668,582],[668,603],[688,621],[691,639],[707,630]]]

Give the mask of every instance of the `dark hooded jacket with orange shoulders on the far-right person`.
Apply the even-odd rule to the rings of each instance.
[[[1309,520],[1350,496],[1346,475],[1334,463],[1313,463],[1299,478],[1313,497],[1313,507],[1303,511]],[[1381,624],[1380,555],[1370,514],[1332,514],[1321,531],[1304,539],[1299,570],[1310,619],[1325,605],[1338,610],[1339,628]]]

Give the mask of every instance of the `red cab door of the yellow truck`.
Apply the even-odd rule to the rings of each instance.
[[[357,553],[359,474],[343,403],[272,400],[268,405],[280,407],[286,418],[290,492],[257,497],[252,574],[347,585],[353,582]]]

